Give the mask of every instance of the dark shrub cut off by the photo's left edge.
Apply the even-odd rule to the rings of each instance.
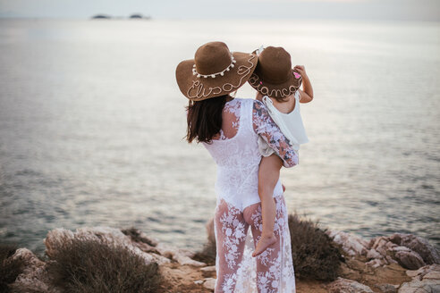
[[[8,284],[12,284],[23,270],[24,259],[11,257],[16,250],[16,245],[0,244],[0,292],[9,292]]]

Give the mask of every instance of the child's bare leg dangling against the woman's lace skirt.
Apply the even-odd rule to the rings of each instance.
[[[252,256],[260,255],[276,242],[274,234],[275,199],[274,188],[280,177],[283,161],[277,155],[263,157],[258,170],[258,196],[261,200],[263,231]]]

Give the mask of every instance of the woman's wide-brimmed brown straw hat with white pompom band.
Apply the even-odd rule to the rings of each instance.
[[[202,101],[240,88],[257,62],[257,54],[230,52],[223,42],[210,42],[199,47],[194,59],[177,65],[175,78],[183,96]]]

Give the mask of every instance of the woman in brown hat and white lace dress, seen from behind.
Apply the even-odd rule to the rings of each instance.
[[[258,197],[258,135],[283,160],[298,163],[298,155],[261,102],[229,96],[255,70],[256,54],[231,53],[221,42],[200,46],[195,58],[182,61],[176,79],[190,99],[187,139],[202,142],[217,164],[216,293],[294,292],[291,240],[283,188],[278,180],[274,199],[275,244],[251,257],[261,237]],[[248,230],[252,231],[252,237]]]

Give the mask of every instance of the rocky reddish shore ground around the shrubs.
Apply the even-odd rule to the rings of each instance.
[[[297,292],[440,292],[440,255],[426,239],[411,234],[393,234],[367,241],[343,231],[327,233],[343,248],[345,263],[340,277],[333,282],[297,280]],[[63,241],[72,238],[117,243],[140,255],[146,263],[157,262],[165,276],[165,292],[213,291],[214,266],[193,260],[194,252],[159,243],[140,230],[124,230],[124,233],[110,227],[80,228],[74,232],[51,230],[44,239],[46,254],[52,255]],[[26,267],[11,285],[12,289],[61,292],[48,281],[47,263],[29,249],[19,248],[12,257],[26,260]]]

